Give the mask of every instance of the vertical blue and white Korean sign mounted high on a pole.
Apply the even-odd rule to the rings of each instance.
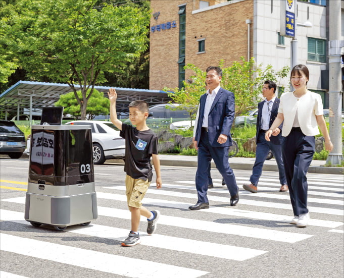
[[[295,11],[297,0],[281,0],[280,35],[295,36]]]

